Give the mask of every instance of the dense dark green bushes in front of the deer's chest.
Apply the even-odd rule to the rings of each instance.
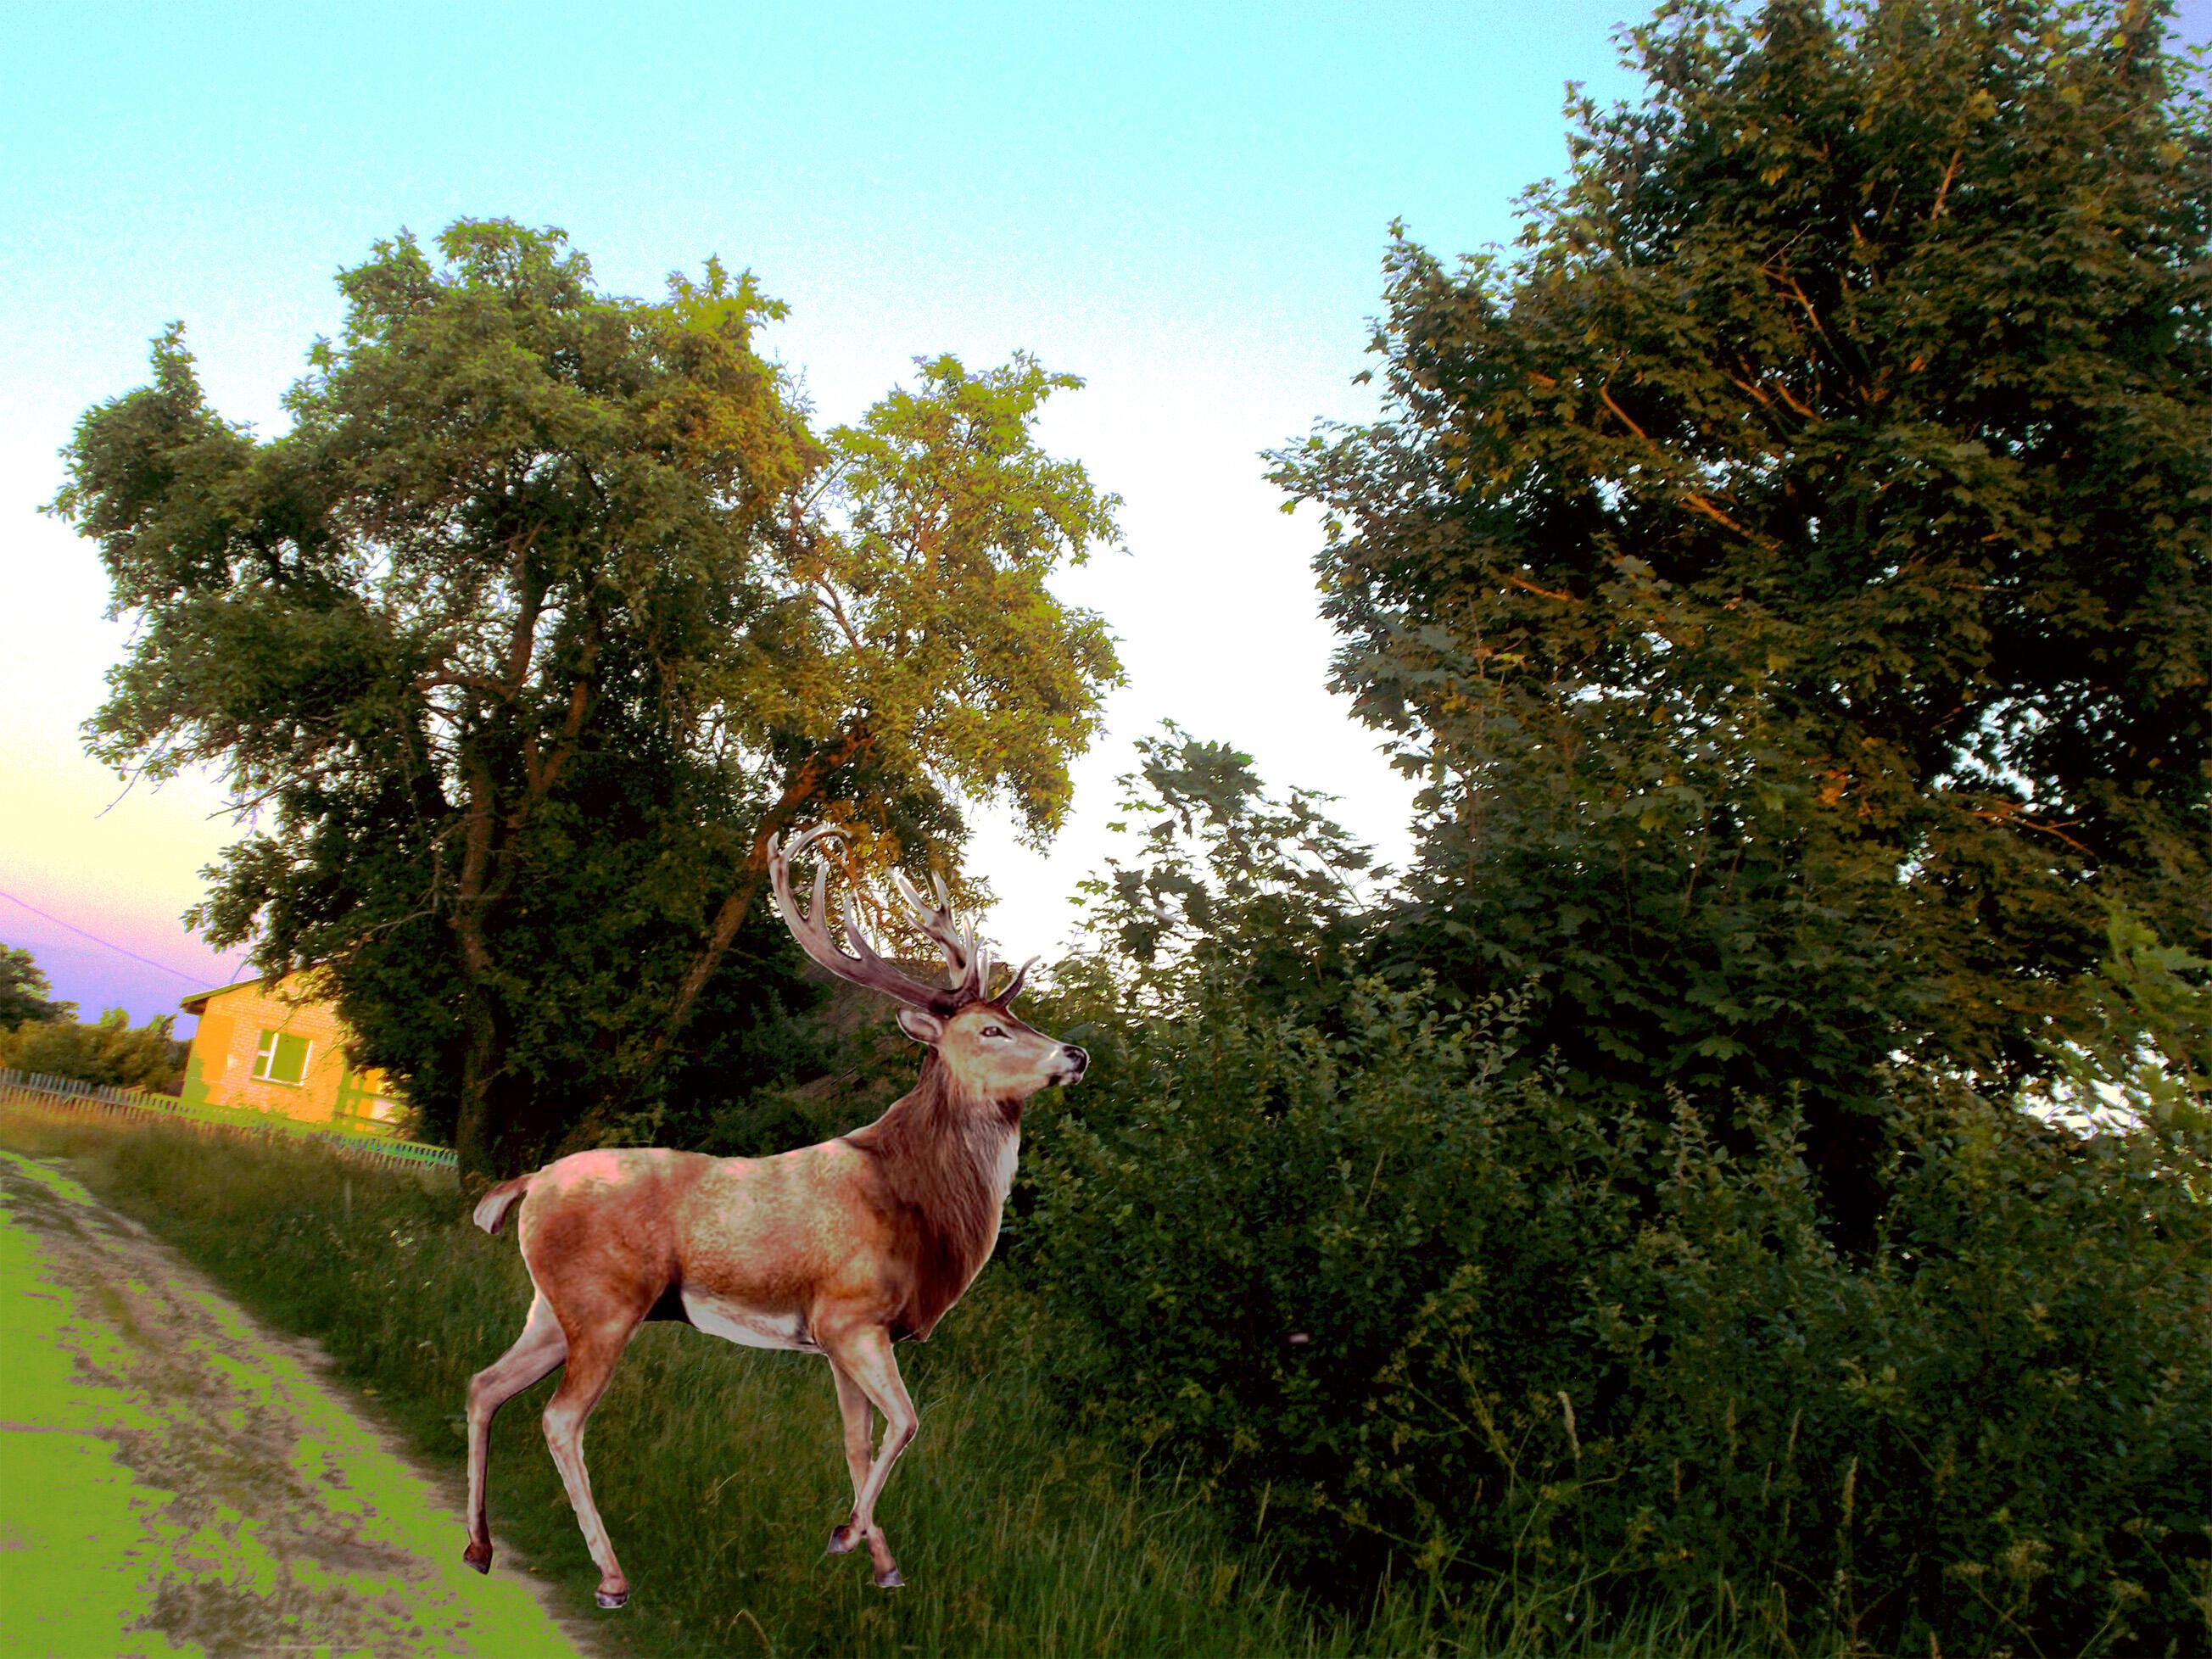
[[[2201,1144],[1927,1108],[1847,1261],[1787,1113],[1732,1104],[1750,1155],[1688,1102],[1601,1121],[1502,1082],[1486,1020],[1356,982],[1325,1035],[1221,973],[1102,1044],[1013,1239],[1060,1398],[1292,1562],[1502,1582],[1559,1637],[1705,1599],[1790,1641],[2205,1646]]]

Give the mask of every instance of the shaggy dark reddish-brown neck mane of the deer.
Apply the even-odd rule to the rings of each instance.
[[[914,1091],[845,1141],[874,1157],[885,1197],[900,1212],[914,1267],[900,1325],[929,1336],[998,1243],[998,1214],[1022,1141],[1022,1102],[964,1097],[931,1051]]]

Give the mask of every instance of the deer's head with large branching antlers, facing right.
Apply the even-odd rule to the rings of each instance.
[[[823,969],[869,991],[880,991],[898,1004],[898,1029],[929,1046],[956,1093],[969,1099],[1022,1102],[1051,1084],[1073,1084],[1084,1075],[1091,1055],[1068,1042],[1048,1037],[1013,1015],[1013,998],[1029,980],[1037,958],[1029,958],[998,993],[991,991],[991,951],[975,942],[973,927],[958,927],[945,878],[936,880],[936,905],[927,902],[902,874],[891,872],[900,898],[907,900],[920,929],[945,956],[949,984],[925,984],[887,962],[860,931],[854,902],[843,898],[843,929],[830,916],[830,865],[814,869],[814,902],[801,911],[792,891],[792,863],[816,841],[838,836],[832,825],[818,825],[803,836],[768,843],[768,883],[774,889],[776,914],[792,929],[810,958]],[[845,945],[838,942],[843,933]]]

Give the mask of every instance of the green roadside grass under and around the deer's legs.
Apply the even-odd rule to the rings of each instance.
[[[458,1478],[469,1374],[513,1340],[529,1281],[513,1237],[476,1232],[451,1190],[312,1150],[20,1110],[0,1113],[0,1139],[69,1155],[95,1192],[241,1303],[316,1336]],[[900,1349],[922,1431],[878,1513],[907,1590],[876,1590],[865,1553],[823,1555],[849,1509],[825,1369],[679,1325],[639,1334],[586,1433],[630,1606],[591,1608],[597,1573],[538,1429],[551,1383],[500,1416],[493,1528],[608,1646],[639,1655],[1562,1652],[1535,1637],[1533,1615],[1546,1599],[1575,1606],[1573,1586],[1495,1586],[1455,1606],[1396,1586],[1343,1613],[1281,1584],[1254,1515],[1071,1436],[1033,1383],[1033,1321],[991,1270],[929,1345]],[[456,1555],[462,1542],[456,1526]],[[1571,1650],[1781,1648],[1772,1632],[1679,1606]]]

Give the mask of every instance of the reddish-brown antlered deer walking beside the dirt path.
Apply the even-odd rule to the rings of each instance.
[[[843,896],[843,940],[827,920],[830,863],[814,872],[812,907],[792,896],[792,863],[834,825],[770,838],[772,902],[799,947],[847,984],[898,1004],[898,1026],[922,1044],[916,1086],[874,1124],[776,1157],[708,1157],[668,1148],[573,1152],[500,1181],[473,1221],[498,1234],[515,1214],[533,1298],[515,1338],[469,1380],[469,1546],[491,1571],[484,1509],[491,1420],[522,1389],[566,1367],[544,1409],[546,1447],[599,1568],[597,1604],[619,1608],[630,1582],[591,1498],[584,1422],[624,1347],[648,1321],[681,1321],[745,1347],[830,1360],[845,1422],[852,1513],[832,1528],[830,1555],[860,1544],[885,1590],[905,1579],[876,1522],[876,1502],[920,1418],[898,1376],[894,1345],[925,1340],[998,1245],[1013,1186],[1022,1108],[1031,1095],[1077,1082],[1091,1057],[1011,1013],[1031,958],[991,991],[991,951],[953,925],[945,878],[936,905],[891,872],[949,984],[925,984],[885,960]],[[883,1440],[874,1442],[874,1418]]]

